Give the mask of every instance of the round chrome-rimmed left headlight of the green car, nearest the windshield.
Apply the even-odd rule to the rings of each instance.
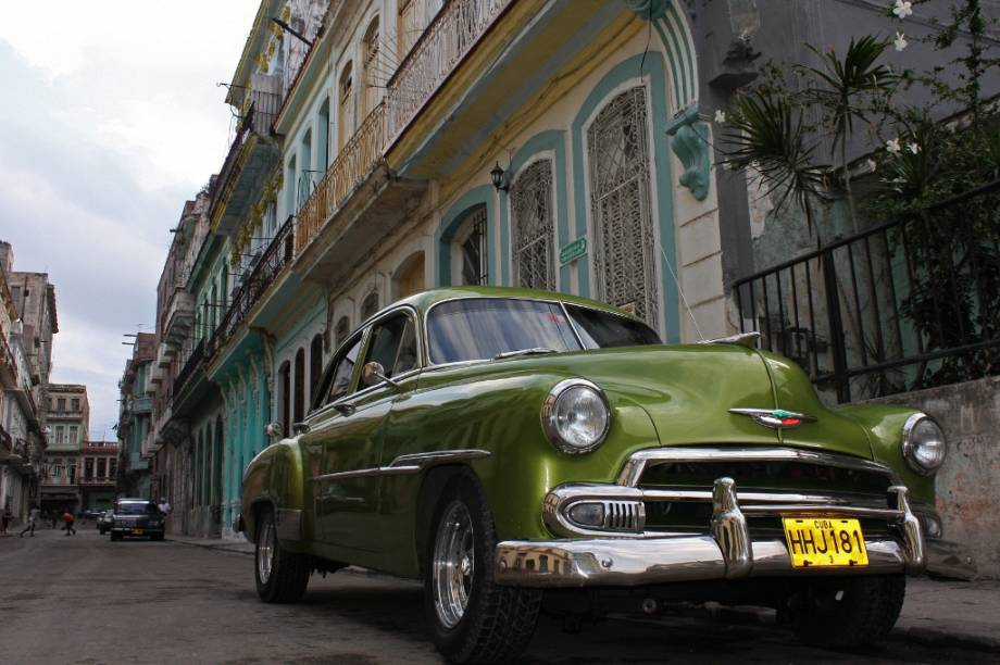
[[[559,450],[571,455],[587,453],[608,435],[611,409],[600,388],[584,379],[568,379],[549,392],[541,424]]]

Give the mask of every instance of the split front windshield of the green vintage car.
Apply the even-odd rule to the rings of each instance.
[[[586,349],[660,342],[655,332],[630,318],[576,305],[568,312]],[[580,350],[562,306],[537,300],[443,302],[430,310],[427,335],[435,364]]]

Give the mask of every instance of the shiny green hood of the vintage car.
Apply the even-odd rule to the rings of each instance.
[[[612,403],[634,402],[661,446],[750,444],[821,449],[872,459],[864,429],[826,409],[792,361],[737,344],[605,349],[574,354],[572,367]],[[782,409],[815,422],[771,429],[730,409]]]

